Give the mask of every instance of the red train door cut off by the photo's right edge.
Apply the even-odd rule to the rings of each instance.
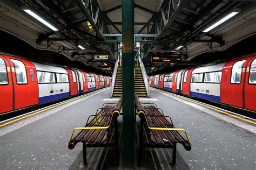
[[[244,108],[256,111],[256,56],[246,63]]]

